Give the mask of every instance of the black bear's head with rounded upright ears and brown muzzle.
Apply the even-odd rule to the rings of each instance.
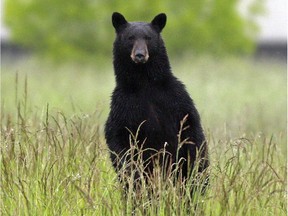
[[[119,56],[130,57],[135,64],[144,64],[164,46],[161,31],[165,27],[167,17],[164,13],[157,15],[151,23],[127,22],[117,12],[112,15],[112,24],[116,30],[114,42],[115,52]]]

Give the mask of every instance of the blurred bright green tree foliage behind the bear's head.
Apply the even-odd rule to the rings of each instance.
[[[157,13],[167,13],[163,36],[171,54],[191,50],[195,54],[243,54],[254,47],[255,26],[251,17],[247,20],[240,15],[237,0],[9,0],[5,5],[13,41],[59,61],[111,55],[114,11],[129,21],[147,22]]]

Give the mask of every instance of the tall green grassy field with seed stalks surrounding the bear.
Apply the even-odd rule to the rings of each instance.
[[[187,57],[172,68],[202,117],[210,187],[188,205],[159,183],[136,215],[287,215],[286,65]],[[103,137],[112,64],[1,69],[1,215],[128,214],[134,194],[123,199]]]

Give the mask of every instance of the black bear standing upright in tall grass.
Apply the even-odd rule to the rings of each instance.
[[[166,152],[160,166],[167,171],[178,164],[177,176],[185,181],[196,158],[197,172],[208,167],[207,144],[193,101],[171,72],[160,35],[166,19],[161,13],[151,23],[127,22],[122,14],[113,13],[116,87],[105,138],[116,171],[125,169],[131,160],[127,152],[138,145],[145,175],[152,175],[156,153]],[[137,142],[131,142],[136,131]],[[160,158],[164,161],[163,155]]]

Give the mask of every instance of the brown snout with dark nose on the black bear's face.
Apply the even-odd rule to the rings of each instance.
[[[148,61],[149,54],[145,41],[135,41],[131,52],[131,59],[136,64],[144,64]]]

